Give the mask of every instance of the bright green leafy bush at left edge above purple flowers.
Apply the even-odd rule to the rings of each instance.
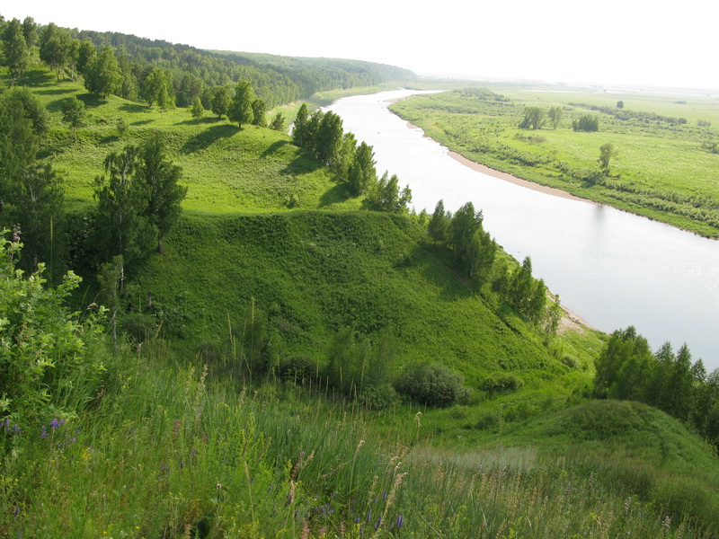
[[[103,349],[94,318],[78,323],[64,306],[81,279],[70,272],[47,288],[44,264],[23,278],[15,270],[21,247],[18,237],[0,237],[0,419],[22,425],[79,406],[102,373]]]

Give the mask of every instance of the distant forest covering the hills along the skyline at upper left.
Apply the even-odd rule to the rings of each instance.
[[[119,78],[111,92],[129,101],[153,101],[147,79],[167,81],[170,99],[179,107],[191,106],[196,97],[211,109],[213,89],[244,80],[253,85],[268,107],[307,99],[317,92],[416,78],[411,71],[359,60],[280,57],[261,54],[219,53],[164,40],[149,40],[120,32],[99,32],[40,25],[26,17],[5,21],[0,34],[13,82],[28,66],[30,50],[37,46],[40,59],[60,76],[73,80],[101,70],[96,58],[117,62]],[[107,65],[104,66],[107,68]],[[115,66],[113,66],[114,68]],[[89,88],[88,88],[89,89]],[[92,91],[92,90],[91,90]],[[102,92],[104,93],[104,92]]]

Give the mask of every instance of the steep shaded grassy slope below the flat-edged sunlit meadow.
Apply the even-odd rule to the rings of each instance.
[[[446,363],[473,385],[497,370],[528,380],[567,370],[536,330],[496,314],[422,236],[409,217],[368,212],[187,215],[135,283],[171,309],[169,334],[195,343],[228,340],[228,323],[241,331],[253,299],[288,354],[324,361],[343,328],[375,341],[388,330],[405,362]]]

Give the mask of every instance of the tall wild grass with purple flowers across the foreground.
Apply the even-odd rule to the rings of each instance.
[[[425,446],[412,407],[384,412],[398,427],[378,436],[381,416],[277,382],[247,392],[229,372],[219,379],[178,365],[161,341],[147,341],[120,353],[93,401],[48,437],[40,425],[3,429],[0,536],[709,537],[716,529],[712,513],[701,513],[715,516],[716,500],[684,475],[699,473],[706,448],[673,433],[676,422],[660,412],[653,429],[686,437],[687,464],[641,473],[683,485],[673,499],[647,496],[631,481],[637,473],[623,476],[635,464],[623,448],[637,441],[610,430],[601,437],[611,462],[598,451],[543,454],[546,425],[560,428],[561,414],[511,435],[533,446],[457,452]],[[564,431],[581,438],[582,429],[599,432],[583,423]]]

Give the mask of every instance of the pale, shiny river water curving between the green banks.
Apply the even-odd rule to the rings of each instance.
[[[484,228],[562,304],[599,330],[634,325],[652,349],[687,343],[708,371],[719,367],[719,242],[624,211],[529,190],[457,162],[387,110],[409,90],[347,97],[328,109],[374,146],[377,172],[409,184],[413,206],[454,212],[471,200]]]

